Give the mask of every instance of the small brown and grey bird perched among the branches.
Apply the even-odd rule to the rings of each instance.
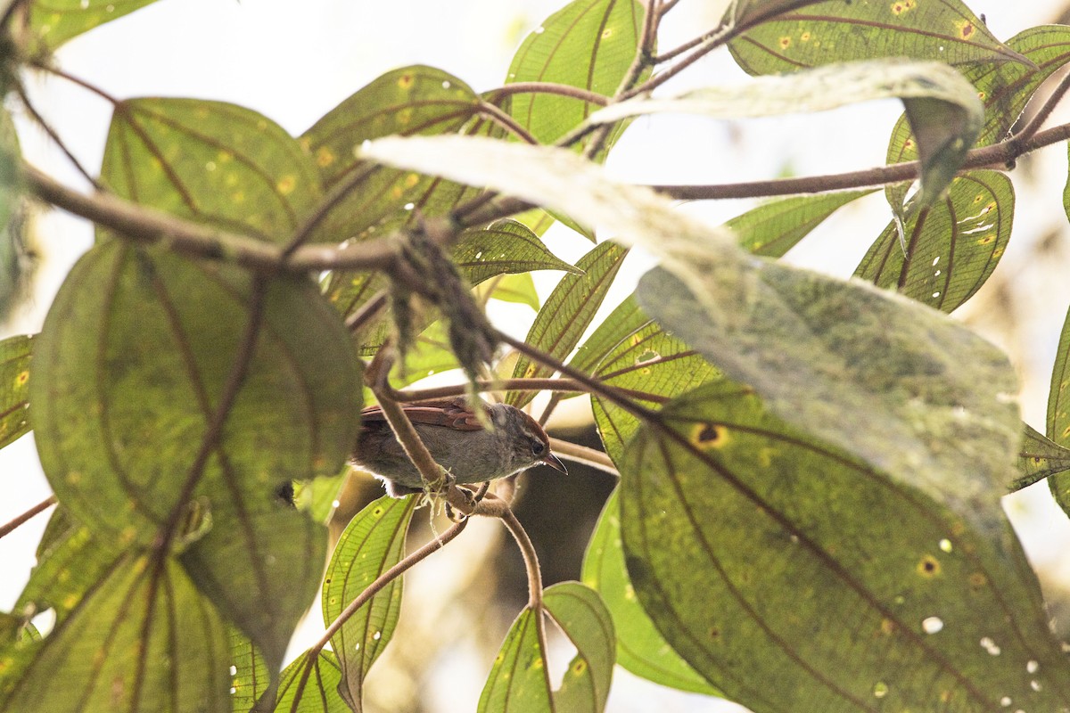
[[[550,438],[531,416],[508,404],[479,401],[492,428],[486,429],[464,399],[400,404],[427,450],[455,482],[482,483],[545,463],[567,472],[550,452]],[[383,480],[386,492],[402,497],[423,490],[424,481],[394,437],[379,406],[361,412],[361,431],[352,463]]]

